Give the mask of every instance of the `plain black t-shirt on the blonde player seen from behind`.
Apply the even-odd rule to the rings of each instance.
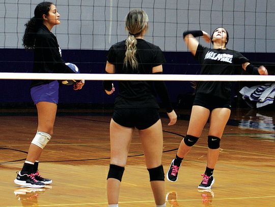
[[[139,63],[136,70],[124,63],[125,40],[114,44],[107,53],[107,61],[115,65],[118,74],[152,74],[152,68],[166,63],[162,51],[143,39],[136,39],[135,57]],[[119,94],[115,108],[159,108],[155,97],[153,81],[119,81]]]

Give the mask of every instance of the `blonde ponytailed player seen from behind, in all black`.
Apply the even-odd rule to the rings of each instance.
[[[109,49],[106,73],[127,73],[133,76],[161,74],[162,64],[166,62],[162,51],[144,40],[148,29],[145,11],[131,10],[126,16],[125,27],[129,32],[128,38]],[[103,85],[107,94],[114,92],[112,81],[103,81]],[[164,172],[161,164],[162,126],[154,90],[166,106],[170,119],[168,125],[174,125],[177,115],[163,81],[119,81],[119,94],[110,123],[111,164],[107,175],[109,206],[118,206],[120,183],[135,128],[139,130],[156,206],[165,206]]]

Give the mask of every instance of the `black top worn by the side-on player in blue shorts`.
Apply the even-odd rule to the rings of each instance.
[[[61,57],[56,36],[42,24],[37,31],[34,49],[33,73],[73,73]],[[31,87],[53,80],[32,80]]]

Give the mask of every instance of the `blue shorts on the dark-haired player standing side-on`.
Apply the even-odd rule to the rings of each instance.
[[[54,80],[47,84],[34,86],[31,88],[31,96],[35,104],[42,101],[58,104],[59,82]]]

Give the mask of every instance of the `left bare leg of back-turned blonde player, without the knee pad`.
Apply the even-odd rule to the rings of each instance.
[[[111,142],[111,164],[124,167],[126,165],[130,143],[134,128],[123,127],[111,120],[110,142]],[[120,181],[107,179],[108,204],[117,204],[119,200]]]

